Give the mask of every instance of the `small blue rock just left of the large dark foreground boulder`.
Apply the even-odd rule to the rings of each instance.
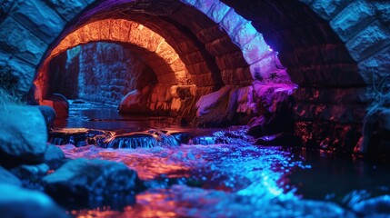
[[[36,179],[44,176],[49,171],[49,166],[45,163],[36,165],[20,165],[11,169],[17,177],[24,180]]]

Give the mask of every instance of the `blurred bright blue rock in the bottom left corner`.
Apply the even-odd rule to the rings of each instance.
[[[5,218],[67,217],[45,193],[30,191],[15,185],[0,183],[0,214]]]

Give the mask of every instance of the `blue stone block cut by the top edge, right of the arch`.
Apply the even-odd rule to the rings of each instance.
[[[348,4],[348,2],[350,2],[350,0],[315,0],[310,6],[317,15],[320,15],[325,20],[329,20],[334,17],[345,4]]]

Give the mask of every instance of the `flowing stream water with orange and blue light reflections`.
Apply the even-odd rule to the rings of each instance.
[[[72,105],[69,119],[56,123],[58,132],[95,132],[88,132],[89,138],[84,134],[82,144],[75,138],[74,144],[59,143],[65,144],[60,146],[65,155],[123,162],[147,187],[135,204],[70,210],[74,216],[390,216],[390,167],[385,163],[253,145],[245,127],[185,128],[164,118],[119,116],[115,108]],[[111,137],[112,144],[91,145],[99,144],[95,135]],[[122,139],[115,143],[115,135]]]

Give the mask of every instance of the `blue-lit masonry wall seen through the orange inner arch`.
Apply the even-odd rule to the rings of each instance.
[[[50,64],[52,93],[118,105],[125,94],[156,83],[153,71],[122,45],[92,43],[68,50]]]

